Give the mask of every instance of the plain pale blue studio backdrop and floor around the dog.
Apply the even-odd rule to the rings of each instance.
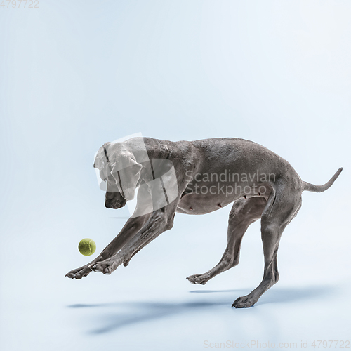
[[[203,350],[350,337],[351,2],[39,0],[0,6],[1,350]],[[9,5],[9,6],[8,6]],[[8,7],[7,7],[8,6]],[[237,137],[287,159],[322,194],[263,274],[260,224],[241,262],[206,286],[230,206],[175,226],[112,275],[64,278],[119,232],[93,169],[106,141]],[[98,249],[77,250],[84,237]],[[214,345],[214,344],[212,344]]]

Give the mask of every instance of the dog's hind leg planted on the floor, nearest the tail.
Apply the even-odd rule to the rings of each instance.
[[[292,187],[280,187],[272,193],[261,218],[261,237],[265,270],[260,285],[249,295],[237,298],[232,307],[251,307],[260,296],[278,282],[277,252],[282,233],[301,207],[301,194]]]

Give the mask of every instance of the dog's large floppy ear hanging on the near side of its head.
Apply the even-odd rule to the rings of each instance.
[[[133,200],[135,188],[140,179],[141,164],[135,161],[132,154],[119,154],[117,160],[113,162],[111,174],[116,180],[119,191],[126,200]]]

